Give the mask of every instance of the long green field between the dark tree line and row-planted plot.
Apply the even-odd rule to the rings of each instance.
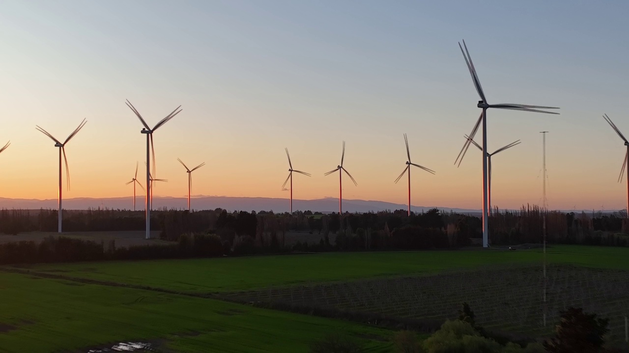
[[[629,248],[552,246],[547,249],[547,259],[554,264],[629,270]],[[487,265],[541,264],[541,261],[542,249],[396,251],[43,264],[28,269],[74,278],[208,293],[252,290],[270,285],[431,274]]]

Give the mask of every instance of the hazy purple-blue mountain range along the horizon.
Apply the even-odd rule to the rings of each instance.
[[[136,198],[136,210],[144,210],[144,197]],[[269,211],[288,212],[289,201],[286,198],[269,197],[226,197],[226,196],[198,196],[192,198],[192,209],[226,209],[230,211]],[[133,209],[132,197],[110,197],[110,198],[67,198],[64,199],[64,209],[67,210],[87,210],[98,207],[107,209]],[[153,197],[153,209],[167,207],[168,209],[186,209],[187,198],[185,197]],[[25,198],[1,198],[1,209],[57,209],[57,199],[37,200]],[[456,207],[443,206],[411,206],[413,212],[425,212],[437,208],[449,212],[460,214],[481,215],[479,209],[459,209]],[[293,210],[311,210],[312,212],[338,212],[338,198],[319,198],[316,200],[292,200]],[[393,204],[376,200],[343,200],[343,211],[348,212],[378,212],[384,210],[406,210],[406,205]],[[592,210],[584,210],[592,212]],[[566,210],[565,212],[581,212],[581,210]],[[614,212],[608,210],[606,212]]]

